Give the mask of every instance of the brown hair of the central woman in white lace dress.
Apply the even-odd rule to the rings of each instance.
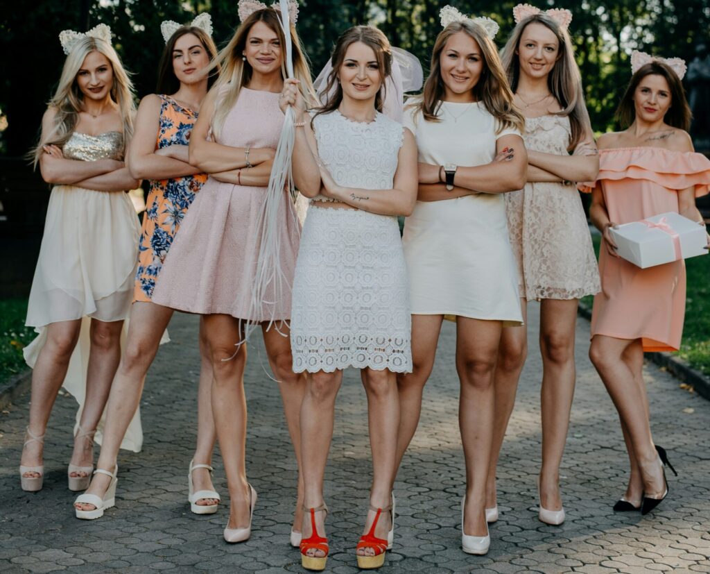
[[[340,102],[343,101],[343,88],[338,81],[338,72],[345,60],[345,53],[350,45],[362,42],[375,53],[378,70],[380,70],[380,79],[383,87],[385,79],[392,73],[392,47],[390,40],[387,39],[381,30],[374,26],[353,26],[344,31],[333,48],[333,53],[330,57],[330,63],[333,67],[328,75],[327,83],[324,88],[324,93],[329,94],[327,102],[322,105],[314,115],[313,119],[320,114],[329,114],[338,109]],[[382,105],[385,101],[385,90],[378,90],[375,96],[375,109],[382,112]]]

